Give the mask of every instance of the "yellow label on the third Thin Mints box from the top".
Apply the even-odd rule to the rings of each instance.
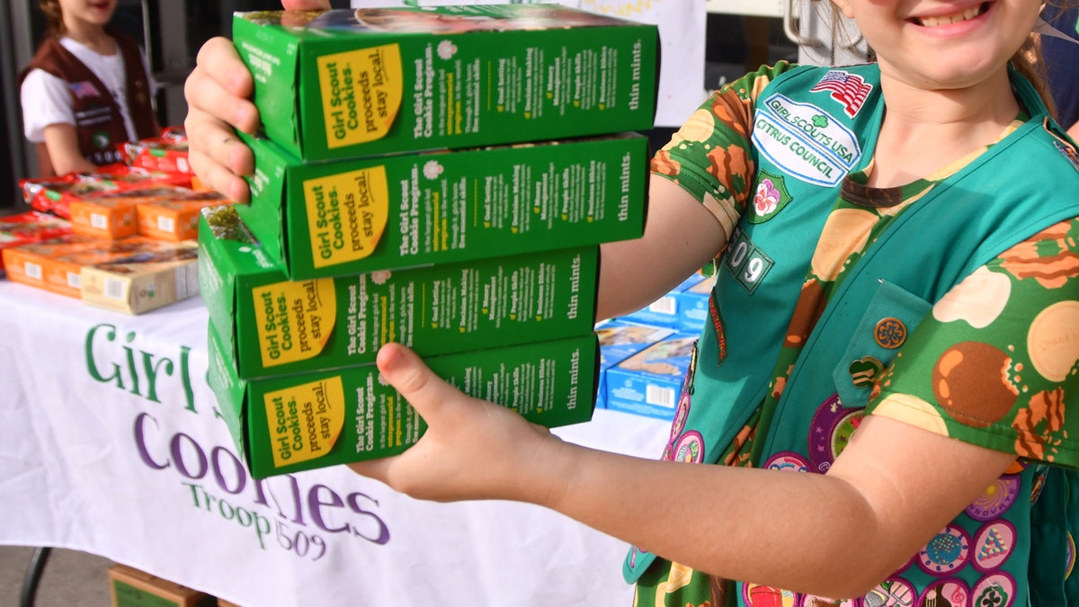
[[[251,289],[262,366],[305,361],[322,353],[337,322],[333,279],[278,282]]]

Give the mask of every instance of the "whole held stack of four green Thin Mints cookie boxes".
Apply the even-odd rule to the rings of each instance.
[[[655,26],[557,5],[237,13],[264,137],[207,210],[210,386],[255,477],[400,453],[410,346],[547,427],[590,419],[599,244],[643,230]]]

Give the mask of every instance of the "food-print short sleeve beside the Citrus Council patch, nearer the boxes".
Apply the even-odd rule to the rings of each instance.
[[[790,64],[780,62],[715,91],[652,160],[653,174],[679,184],[700,201],[720,221],[727,240],[753,187],[753,104],[788,69]]]

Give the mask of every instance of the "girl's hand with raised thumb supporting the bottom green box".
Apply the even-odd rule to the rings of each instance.
[[[473,399],[436,376],[411,350],[379,350],[382,377],[428,428],[404,454],[350,464],[409,496],[436,500],[514,499],[548,503],[565,445],[505,407]],[[564,480],[563,480],[564,481]]]

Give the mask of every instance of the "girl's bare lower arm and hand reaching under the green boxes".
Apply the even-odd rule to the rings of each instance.
[[[864,595],[1015,459],[874,416],[823,475],[638,459],[467,397],[402,346],[378,364],[429,428],[356,472],[421,499],[535,503],[683,565],[820,596]]]

